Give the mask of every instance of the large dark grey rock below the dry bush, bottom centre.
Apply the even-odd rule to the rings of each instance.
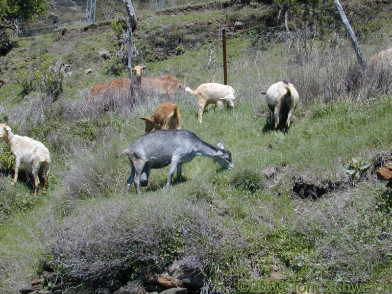
[[[194,258],[184,258],[175,261],[169,268],[169,273],[186,286],[201,288],[204,284],[204,274],[200,263]]]

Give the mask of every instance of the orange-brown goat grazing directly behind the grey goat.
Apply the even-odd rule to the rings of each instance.
[[[156,130],[180,129],[180,111],[178,106],[172,102],[163,102],[159,104],[153,115],[141,118],[146,123],[146,133],[154,127]]]

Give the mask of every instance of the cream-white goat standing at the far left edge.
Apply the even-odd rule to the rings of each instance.
[[[11,128],[5,123],[0,123],[0,138],[8,144],[12,154],[15,156],[15,174],[12,185],[18,180],[19,165],[22,161],[25,165],[26,174],[30,172],[34,177],[34,196],[37,195],[40,185],[38,175],[42,172],[44,176],[45,172],[42,193],[46,194],[50,169],[50,153],[48,148],[41,142],[29,137],[14,135],[11,132]]]

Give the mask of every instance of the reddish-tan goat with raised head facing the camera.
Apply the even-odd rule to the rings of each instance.
[[[178,79],[170,74],[161,75],[157,77],[142,76],[145,66],[136,65],[132,72],[136,76],[135,88],[142,91],[149,96],[150,94],[167,95],[172,98],[178,88],[184,89],[184,86]]]

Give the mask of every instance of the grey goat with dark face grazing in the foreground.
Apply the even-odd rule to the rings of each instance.
[[[172,176],[177,168],[177,183],[181,177],[182,164],[190,162],[195,156],[208,156],[218,162],[223,169],[234,168],[231,153],[218,143],[218,148],[200,140],[188,130],[155,130],[140,136],[131,146],[116,154],[128,154],[131,162],[131,175],[127,180],[127,191],[132,182],[138,194],[140,186],[146,187],[150,169],[170,166],[166,186],[172,184]]]

